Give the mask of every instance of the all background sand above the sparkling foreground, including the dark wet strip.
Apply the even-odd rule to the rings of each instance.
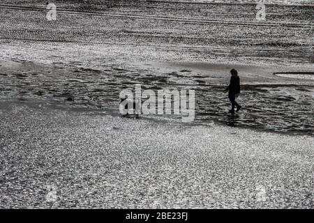
[[[272,75],[313,72],[313,6],[267,5],[259,22],[253,4],[93,2],[62,1],[48,22],[41,1],[1,1],[2,97],[117,112],[119,92],[136,83],[188,88],[199,123],[313,134],[313,79]],[[229,116],[233,67],[244,109]]]

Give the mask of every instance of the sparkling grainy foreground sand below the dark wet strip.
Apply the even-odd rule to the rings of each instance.
[[[1,208],[313,208],[313,137],[0,105]]]

